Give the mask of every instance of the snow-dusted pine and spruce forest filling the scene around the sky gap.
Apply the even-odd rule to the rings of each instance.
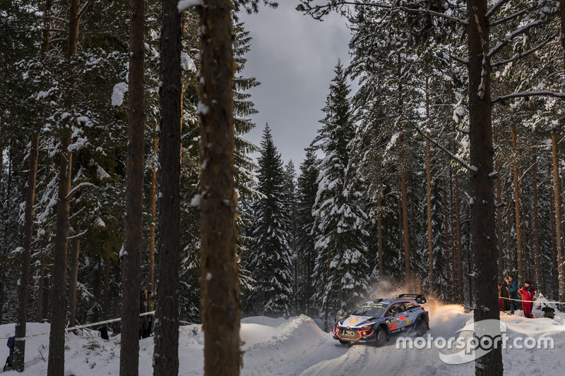
[[[218,242],[237,236],[227,274],[239,279],[243,317],[304,313],[330,331],[364,299],[402,290],[477,318],[492,315],[477,305],[496,304],[508,274],[565,301],[564,0],[297,1],[316,19],[340,13],[352,56],[336,62],[299,166],[284,163],[268,125],[261,145],[245,138],[263,124],[251,121],[249,90],[260,83],[242,74],[253,43],[237,14],[276,4],[227,1],[232,18],[206,29],[213,1],[182,11],[178,1],[138,2],[143,12],[105,0],[0,1],[0,324],[22,309],[35,322],[59,310],[66,326],[125,320],[144,288],[157,306],[174,295],[177,320],[203,322],[214,240],[203,202],[220,184],[205,172],[206,145],[221,131],[202,132],[213,121],[202,41],[225,25],[237,204],[223,218],[237,231]],[[169,65],[166,11],[178,18]],[[172,77],[180,85],[167,86]],[[174,101],[163,87],[176,87]],[[176,113],[178,135],[164,127]],[[174,219],[167,198],[177,196]],[[124,277],[132,270],[137,279]],[[178,286],[160,301],[167,274]],[[123,291],[136,291],[129,303]]]

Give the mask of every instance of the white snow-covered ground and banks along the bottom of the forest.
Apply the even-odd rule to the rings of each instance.
[[[428,304],[430,331],[446,339],[472,322],[472,313],[464,313],[458,305]],[[565,314],[554,320],[535,311],[535,319],[523,317],[522,312],[502,314],[510,339],[531,336],[551,337],[554,349],[504,349],[506,375],[545,375],[565,366]],[[14,325],[0,325],[0,338],[13,335]],[[28,324],[28,335],[49,331],[48,324]],[[65,376],[119,375],[119,336],[104,341],[97,332],[83,336],[69,334],[66,343]],[[355,344],[343,346],[324,333],[310,317],[300,315],[288,320],[270,317],[248,317],[242,320],[241,337],[245,342],[242,375],[474,375],[474,363],[447,365],[435,348],[396,348],[396,337],[383,348]],[[8,347],[0,346],[1,359]],[[203,374],[203,334],[198,325],[180,328],[179,375]],[[28,339],[25,353],[25,372],[22,376],[47,375],[49,336]],[[153,375],[151,369],[153,338],[140,342],[139,375]],[[6,375],[18,375],[16,371]]]

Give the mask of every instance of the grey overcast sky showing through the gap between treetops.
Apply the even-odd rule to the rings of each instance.
[[[320,22],[296,11],[297,4],[282,0],[276,9],[263,6],[239,17],[253,38],[243,74],[261,83],[250,91],[259,113],[246,138],[259,145],[268,123],[285,164],[292,159],[299,173],[304,148],[321,126],[333,68],[338,59],[350,61],[350,31],[344,18],[333,14]]]

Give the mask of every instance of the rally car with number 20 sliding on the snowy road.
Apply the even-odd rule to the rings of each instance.
[[[341,344],[374,342],[383,346],[393,334],[415,330],[423,336],[429,329],[429,315],[423,295],[403,293],[398,298],[367,301],[333,327],[333,339]]]

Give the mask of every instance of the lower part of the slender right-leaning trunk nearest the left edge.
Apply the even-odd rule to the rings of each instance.
[[[25,357],[25,326],[28,322],[28,289],[30,281],[30,258],[33,237],[33,205],[35,203],[35,180],[37,178],[37,154],[40,134],[31,137],[30,164],[28,169],[28,189],[25,193],[25,212],[23,225],[23,249],[20,259],[20,283],[18,284],[18,319],[16,322],[16,345],[13,365],[16,371],[23,372]]]

